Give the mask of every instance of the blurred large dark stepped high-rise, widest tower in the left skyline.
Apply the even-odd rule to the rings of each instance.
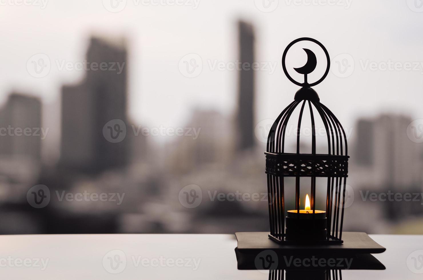
[[[86,60],[85,80],[62,88],[60,163],[77,171],[97,173],[127,162],[128,139],[113,143],[103,135],[109,121],[118,119],[127,125],[125,44],[91,38]],[[115,129],[115,124],[110,127]],[[120,125],[117,128],[122,129]]]

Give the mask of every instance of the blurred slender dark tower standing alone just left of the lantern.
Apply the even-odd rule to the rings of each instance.
[[[239,69],[238,85],[238,145],[239,150],[254,146],[254,87],[255,73],[251,69],[254,60],[254,30],[246,22],[238,23],[239,60],[249,63],[250,68]]]

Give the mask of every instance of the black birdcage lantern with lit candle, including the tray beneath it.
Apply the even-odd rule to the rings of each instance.
[[[316,68],[316,55],[304,49],[308,55],[305,66],[295,69],[304,75],[304,82],[297,82],[288,74],[285,58],[288,49],[300,41],[319,45],[327,59],[324,75],[316,82],[308,83],[307,75]],[[272,250],[279,258],[287,255],[303,256],[356,256],[382,253],[386,249],[363,232],[344,232],[344,206],[346,201],[346,178],[348,177],[348,145],[346,133],[338,118],[322,103],[311,87],[319,84],[329,73],[330,59],[326,48],[312,38],[299,38],[288,44],[282,56],[283,71],[291,82],[301,86],[288,105],[273,123],[266,147],[267,191],[269,193],[269,232],[235,233],[238,269],[251,269],[255,257]],[[298,132],[304,110],[310,111],[312,129],[311,153],[300,154],[300,135],[296,138],[296,153],[285,151],[286,128],[292,113],[299,108]],[[316,153],[315,116],[321,119],[327,138],[327,153]],[[285,189],[295,179],[295,209],[286,211]],[[310,180],[310,205],[300,209],[300,182]],[[325,209],[316,209],[316,178],[326,178]],[[303,194],[305,197],[305,194]],[[284,269],[279,268],[279,269]],[[383,268],[382,268],[383,269]]]

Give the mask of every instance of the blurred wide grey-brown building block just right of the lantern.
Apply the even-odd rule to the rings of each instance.
[[[407,189],[421,185],[419,145],[407,137],[411,118],[379,115],[358,121],[355,157],[362,184],[378,189]]]

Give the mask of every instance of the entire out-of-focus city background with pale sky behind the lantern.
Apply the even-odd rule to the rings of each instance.
[[[345,229],[413,231],[398,221],[401,214],[408,217],[401,222],[423,227],[419,201],[360,199],[366,191],[403,194],[421,192],[423,186],[423,124],[418,120],[423,119],[423,55],[418,52],[423,41],[410,43],[416,39],[407,32],[401,33],[407,38],[396,40],[392,36],[398,30],[381,28],[380,22],[360,28],[376,20],[360,6],[375,3],[307,7],[273,1],[269,3],[277,3],[273,8],[279,12],[266,13],[263,10],[270,6],[261,6],[263,2],[234,1],[222,4],[217,16],[215,4],[205,2],[140,5],[135,7],[140,13],[151,12],[140,20],[151,22],[140,26],[134,25],[139,14],[131,9],[138,2],[119,2],[127,4],[122,11],[107,3],[86,4],[84,11],[75,11],[73,3],[68,15],[75,26],[65,16],[68,4],[47,3],[35,13],[46,13],[40,26],[46,28],[51,18],[58,24],[48,25],[45,34],[32,32],[33,25],[22,33],[22,38],[39,40],[38,44],[21,45],[21,37],[3,34],[7,36],[0,53],[5,63],[0,69],[0,128],[17,129],[14,135],[0,137],[0,207],[7,212],[1,220],[7,226],[0,227],[0,233],[267,230],[266,201],[212,197],[266,192],[263,152],[269,126],[299,89],[283,74],[280,59],[286,45],[301,36],[318,39],[330,53],[330,74],[315,89],[341,121],[349,142],[347,184],[356,199],[346,211]],[[23,7],[22,13],[34,8]],[[393,6],[380,8],[393,15]],[[404,3],[396,8],[407,9],[409,21],[423,21]],[[11,16],[13,8],[7,9],[10,14],[0,23],[17,22]],[[346,12],[350,9],[354,13]],[[86,14],[92,10],[96,13]],[[352,14],[362,17],[353,19]],[[103,16],[109,20],[104,22]],[[377,16],[392,24],[387,14]],[[199,24],[190,24],[190,19]],[[333,19],[353,20],[355,25],[344,27]],[[60,30],[65,22],[67,29]],[[318,67],[309,81],[319,79],[325,69],[323,52],[313,51]],[[288,71],[305,60],[297,46],[289,53]],[[18,136],[18,129],[37,127],[41,136]],[[296,127],[288,123],[288,138],[296,139]],[[301,133],[310,140],[307,121]],[[325,153],[327,146],[319,140],[326,131],[317,133],[316,149]],[[288,151],[295,150],[294,142],[287,140]],[[310,143],[302,140],[300,149],[306,152]],[[188,203],[192,191],[205,196],[195,209]],[[52,201],[41,207],[37,195],[42,203],[47,192]],[[82,192],[117,193],[121,200],[116,204],[60,199],[66,192],[72,197]]]

